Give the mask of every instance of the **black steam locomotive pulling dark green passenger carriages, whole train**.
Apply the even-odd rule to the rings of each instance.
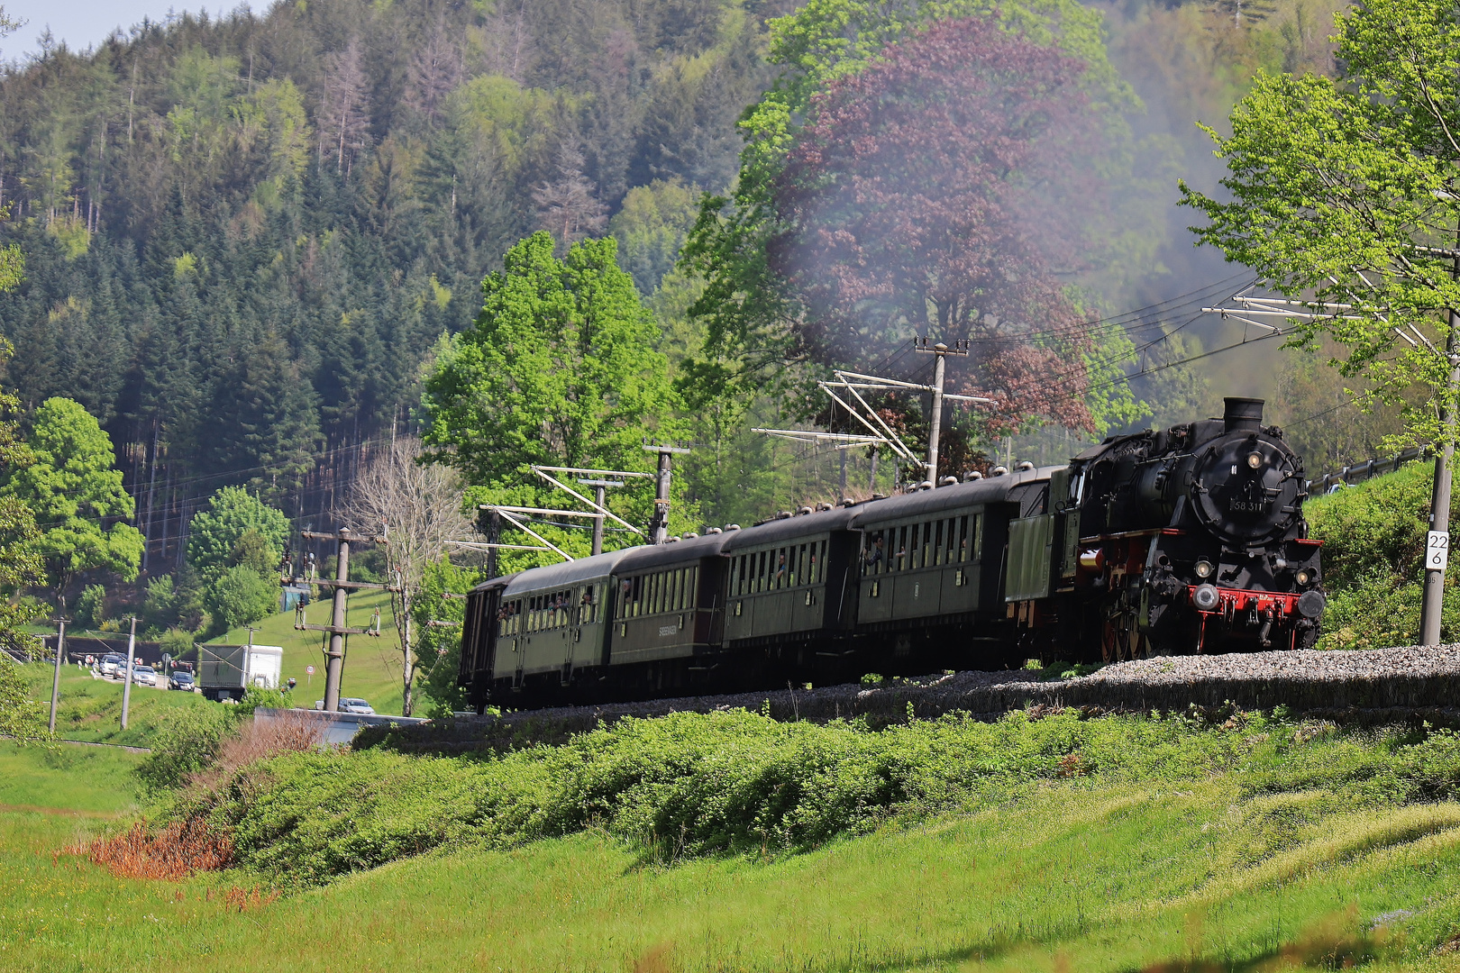
[[[514,709],[1002,668],[1031,655],[1310,648],[1302,460],[1263,403],[1019,464],[496,578],[458,678]]]

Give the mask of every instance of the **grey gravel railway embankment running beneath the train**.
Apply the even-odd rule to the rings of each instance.
[[[1034,681],[1023,671],[956,672],[898,680],[876,689],[826,686],[730,696],[658,699],[642,703],[543,709],[505,716],[396,728],[378,737],[406,750],[470,750],[527,741],[549,743],[623,716],[663,716],[715,709],[764,710],[775,719],[850,719],[873,725],[910,713],[948,712],[996,718],[1013,709],[1080,708],[1089,712],[1149,712],[1286,706],[1314,716],[1368,715],[1388,721],[1424,718],[1460,724],[1460,645],[1400,646],[1353,652],[1253,652],[1186,655],[1107,665],[1091,675]],[[371,734],[369,740],[377,735]]]

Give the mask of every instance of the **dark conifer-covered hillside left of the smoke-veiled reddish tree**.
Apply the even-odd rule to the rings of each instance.
[[[315,0],[13,67],[0,238],[26,277],[0,298],[4,384],[102,422],[155,538],[226,481],[327,509],[518,238],[618,213],[654,289],[694,194],[734,174],[778,12]]]

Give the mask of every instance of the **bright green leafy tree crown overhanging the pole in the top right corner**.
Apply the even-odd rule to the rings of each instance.
[[[1380,0],[1337,18],[1339,77],[1259,74],[1232,111],[1228,203],[1183,188],[1210,220],[1202,242],[1282,293],[1343,305],[1298,322],[1298,340],[1346,347],[1346,375],[1402,403],[1413,439],[1447,433],[1450,365],[1394,330],[1445,343],[1460,308],[1460,23],[1441,0]],[[1425,249],[1425,248],[1440,249]],[[1456,338],[1448,338],[1454,341]],[[1415,389],[1419,389],[1418,395]]]

